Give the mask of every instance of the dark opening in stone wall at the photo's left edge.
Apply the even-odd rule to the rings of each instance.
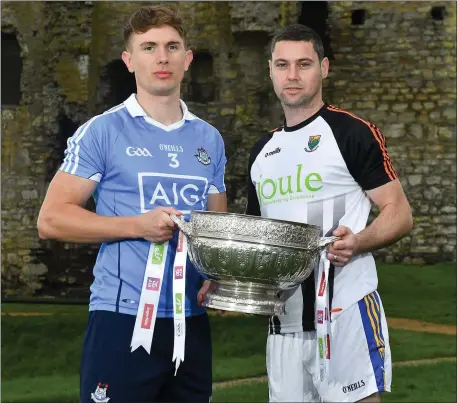
[[[21,47],[16,35],[2,32],[2,105],[15,106],[21,102]]]

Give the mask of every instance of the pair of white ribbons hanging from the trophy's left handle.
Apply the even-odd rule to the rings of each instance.
[[[149,247],[146,270],[144,272],[140,303],[133,330],[131,351],[143,347],[151,353],[154,336],[154,326],[159,306],[160,290],[165,272],[169,242],[163,244],[151,243]],[[174,312],[174,347],[172,361],[175,361],[175,375],[178,367],[184,361],[186,338],[186,263],[187,239],[179,231],[178,246],[173,263],[173,312]]]

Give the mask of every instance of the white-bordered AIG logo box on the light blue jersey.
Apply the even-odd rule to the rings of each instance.
[[[178,210],[203,209],[208,179],[202,176],[173,175],[155,172],[138,174],[141,212],[157,206]]]

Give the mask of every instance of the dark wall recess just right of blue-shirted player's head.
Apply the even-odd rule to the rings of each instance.
[[[214,61],[209,52],[196,52],[190,65],[188,99],[190,102],[207,103],[216,98]]]

